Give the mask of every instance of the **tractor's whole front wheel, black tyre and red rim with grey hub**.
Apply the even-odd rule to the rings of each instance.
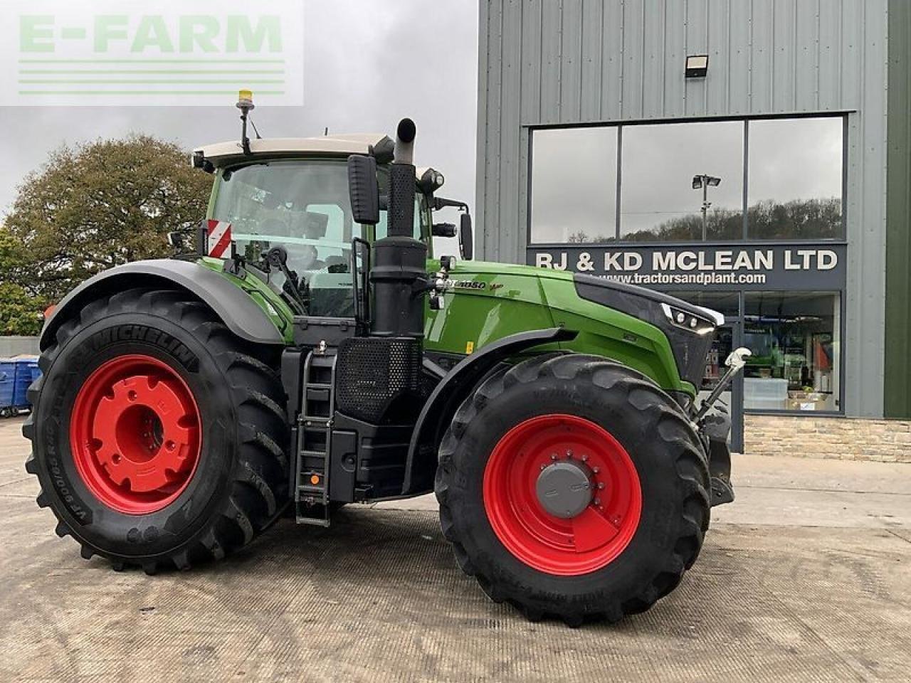
[[[459,566],[496,602],[570,626],[645,611],[709,525],[709,472],[681,409],[638,372],[548,354],[494,372],[440,445]]]

